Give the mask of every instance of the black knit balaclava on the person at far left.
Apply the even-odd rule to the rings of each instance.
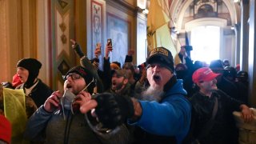
[[[29,71],[29,77],[24,83],[26,88],[30,88],[34,84],[34,79],[38,78],[39,70],[42,67],[42,63],[34,58],[23,58],[18,61],[17,67],[23,67]]]

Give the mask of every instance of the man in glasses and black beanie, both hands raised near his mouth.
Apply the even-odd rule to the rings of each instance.
[[[24,137],[30,142],[119,144],[128,138],[126,126],[119,126],[115,133],[101,133],[102,130],[94,130],[96,128],[87,122],[96,123],[97,119],[87,117],[90,113],[81,113],[79,107],[93,97],[94,86],[97,85],[95,79],[98,77],[89,59],[83,58],[86,66],[74,66],[66,73],[64,94],[60,90],[54,91],[30,117],[24,132]]]

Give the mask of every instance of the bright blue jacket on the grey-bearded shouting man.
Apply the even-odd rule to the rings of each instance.
[[[137,122],[128,121],[130,125],[140,126],[150,134],[174,136],[177,143],[182,143],[190,129],[191,104],[186,99],[186,90],[182,80],[166,91],[162,102],[139,101],[142,116]]]

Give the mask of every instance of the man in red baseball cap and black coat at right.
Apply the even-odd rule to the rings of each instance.
[[[238,143],[238,129],[235,127],[233,111],[241,111],[243,122],[251,122],[254,114],[244,102],[230,97],[218,89],[221,74],[209,67],[202,67],[192,75],[199,91],[190,102],[193,106],[193,138],[199,143]]]

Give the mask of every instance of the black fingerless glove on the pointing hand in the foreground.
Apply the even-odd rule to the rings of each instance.
[[[109,129],[126,122],[127,118],[134,116],[134,104],[130,98],[122,95],[102,93],[95,97],[98,106],[95,112],[99,122]]]

